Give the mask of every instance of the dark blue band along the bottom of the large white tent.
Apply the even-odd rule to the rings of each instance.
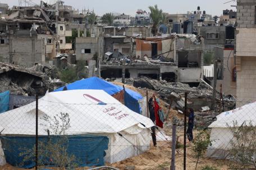
[[[47,143],[49,138],[52,141],[57,141],[60,136],[40,136],[39,143]],[[34,136],[0,136],[0,139],[7,163],[21,168],[35,166],[34,158],[33,160],[24,161],[24,155],[21,155],[21,153],[26,153],[28,150],[33,150],[35,145]],[[104,150],[108,149],[109,142],[107,136],[72,135],[67,136],[67,139],[67,143],[63,145],[66,145],[69,156],[75,156],[75,164],[78,167],[104,166],[104,156],[106,155]],[[50,161],[51,158],[39,155],[39,159],[39,162],[42,162],[44,166],[54,166]]]

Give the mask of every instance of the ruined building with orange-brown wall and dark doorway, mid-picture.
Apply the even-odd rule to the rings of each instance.
[[[135,38],[136,56],[126,60],[112,56],[103,60],[103,78],[121,78],[122,60],[126,60],[125,77],[141,76],[168,82],[199,83],[203,70],[203,39],[195,35]],[[113,44],[114,46],[115,44]]]

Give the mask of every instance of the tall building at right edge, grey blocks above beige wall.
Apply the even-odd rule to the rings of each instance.
[[[237,0],[236,107],[256,101],[256,0]]]

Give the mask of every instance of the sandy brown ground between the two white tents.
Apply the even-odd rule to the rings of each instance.
[[[122,83],[115,82],[115,84],[122,85]],[[138,89],[133,86],[127,86],[125,87],[130,88],[134,91],[137,91],[141,93],[141,95],[145,96],[146,91],[145,89]],[[148,90],[149,97],[151,97],[154,93],[152,90]],[[168,107],[166,107],[166,104],[160,100],[161,102],[161,107],[165,113],[168,112]],[[165,123],[166,125],[162,129],[164,133],[167,135],[171,136],[172,135],[172,129],[171,126],[168,126],[170,122],[172,121],[172,117],[176,116],[178,119],[182,120],[183,115],[180,115],[177,113],[175,110],[171,110],[170,114],[168,116],[167,122]],[[183,143],[183,128],[177,128],[177,136],[179,137],[179,141]],[[196,131],[195,131],[196,134]],[[107,166],[112,166],[116,167],[119,169],[126,169],[129,166],[135,166],[135,169],[156,169],[156,170],[161,170],[161,169],[170,169],[171,165],[171,143],[167,143],[166,141],[158,141],[158,147],[153,147],[152,144],[150,146],[150,149],[148,152],[145,152],[137,157],[129,158],[126,160],[123,160],[121,162],[113,163],[113,164],[107,164]],[[186,154],[186,169],[188,170],[194,170],[195,169],[195,164],[196,164],[196,158],[193,156],[192,152],[192,146],[193,144],[190,143],[188,144],[187,148],[187,154]],[[176,170],[183,169],[183,148],[177,149],[176,150],[176,157],[175,157],[175,164],[176,164]],[[199,159],[199,164],[197,169],[202,169],[204,166],[215,166],[220,170],[226,170],[228,169],[228,162],[227,160],[215,160],[215,159],[209,159],[209,158],[201,158]],[[0,169],[4,170],[11,170],[11,169],[18,169],[18,170],[24,170],[22,168],[15,168],[11,167],[10,165],[2,166]],[[58,169],[58,168],[49,168],[49,169]],[[88,169],[88,168],[77,168],[77,170],[81,169]]]

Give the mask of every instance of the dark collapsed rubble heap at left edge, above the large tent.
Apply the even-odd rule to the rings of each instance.
[[[0,92],[8,90],[13,95],[43,96],[48,90],[53,91],[54,88],[65,85],[60,81],[52,81],[55,72],[54,68],[41,64],[25,68],[0,63]]]

